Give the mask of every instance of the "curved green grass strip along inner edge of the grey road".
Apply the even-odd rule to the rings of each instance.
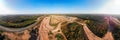
[[[28,25],[33,24],[33,23],[35,23],[35,21],[27,20],[27,21],[24,21],[22,23],[1,22],[0,25],[5,26],[5,27],[11,27],[11,28],[21,28],[21,27],[25,27],[25,26],[28,26]]]

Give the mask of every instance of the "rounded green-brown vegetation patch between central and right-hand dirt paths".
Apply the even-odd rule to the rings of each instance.
[[[68,40],[87,40],[82,25],[70,23],[67,27],[62,27],[62,31]]]

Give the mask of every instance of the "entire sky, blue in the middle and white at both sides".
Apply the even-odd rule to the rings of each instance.
[[[0,14],[119,14],[120,0],[0,0]]]

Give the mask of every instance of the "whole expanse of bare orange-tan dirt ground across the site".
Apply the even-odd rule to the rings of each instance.
[[[118,20],[114,17],[106,17],[106,22],[108,25],[111,21],[118,23]],[[38,18],[39,19],[39,18]],[[115,21],[115,20],[117,21]],[[2,35],[5,36],[6,39],[4,40],[57,40],[56,35],[62,35],[62,40],[67,40],[65,34],[62,32],[62,24],[73,23],[76,22],[79,25],[83,26],[84,32],[88,40],[114,40],[112,36],[112,32],[108,29],[107,33],[104,37],[96,36],[85,24],[86,21],[77,21],[77,17],[66,17],[62,15],[50,15],[43,17],[41,22],[34,27],[23,29],[22,31],[18,32],[3,32]],[[56,25],[55,25],[56,24]],[[109,28],[109,27],[108,27]]]

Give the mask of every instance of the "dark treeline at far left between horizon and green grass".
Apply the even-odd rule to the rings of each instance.
[[[14,15],[14,16],[3,16],[0,20],[5,22],[12,22],[12,23],[21,23],[26,20],[35,20],[37,16],[30,16],[30,15]]]

